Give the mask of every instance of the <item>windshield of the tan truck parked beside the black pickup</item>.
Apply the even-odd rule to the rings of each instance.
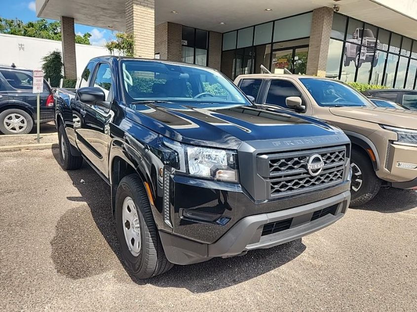
[[[320,106],[373,106],[364,95],[339,81],[300,78]]]

